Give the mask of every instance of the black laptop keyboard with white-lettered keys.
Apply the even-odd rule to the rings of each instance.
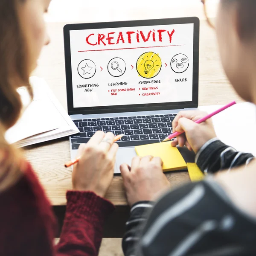
[[[96,131],[125,134],[117,141],[119,147],[159,143],[172,133],[172,121],[177,114],[122,116],[73,120],[80,133],[71,136],[72,149],[87,143]]]

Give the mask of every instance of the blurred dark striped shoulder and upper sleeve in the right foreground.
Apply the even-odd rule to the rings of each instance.
[[[241,214],[223,193],[206,181],[167,193],[134,230],[136,240],[125,236],[125,256],[256,255],[256,220]]]

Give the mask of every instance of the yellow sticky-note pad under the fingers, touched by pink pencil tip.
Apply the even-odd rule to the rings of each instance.
[[[137,146],[135,151],[140,157],[148,155],[160,157],[163,161],[164,172],[186,169],[187,166],[180,151],[176,147],[172,147],[169,142]]]

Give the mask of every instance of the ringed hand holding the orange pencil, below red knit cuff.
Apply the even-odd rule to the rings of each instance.
[[[79,147],[79,163],[73,168],[73,189],[93,191],[104,197],[113,179],[118,145],[111,132],[97,131],[88,143]]]

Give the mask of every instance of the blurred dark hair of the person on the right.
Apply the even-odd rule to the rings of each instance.
[[[239,35],[244,40],[256,38],[256,0],[221,0],[224,7],[237,4]]]

